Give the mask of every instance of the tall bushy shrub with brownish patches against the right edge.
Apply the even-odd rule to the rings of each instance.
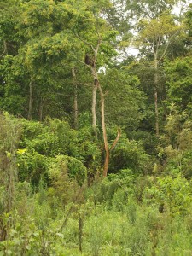
[[[160,160],[164,162],[167,174],[181,173],[183,177],[191,177],[191,121],[186,111],[179,112],[172,105],[171,113],[166,119],[166,133],[161,137],[159,150]]]

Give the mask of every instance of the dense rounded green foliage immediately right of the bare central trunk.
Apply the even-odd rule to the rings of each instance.
[[[109,125],[120,125],[125,131],[137,129],[143,119],[146,96],[139,90],[137,76],[111,68],[102,74],[106,84],[106,119]],[[137,116],[137,119],[135,118]]]

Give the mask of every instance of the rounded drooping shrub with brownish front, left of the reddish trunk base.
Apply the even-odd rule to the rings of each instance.
[[[66,206],[73,201],[84,201],[86,168],[81,161],[67,155],[59,155],[49,166],[49,201],[52,207]]]

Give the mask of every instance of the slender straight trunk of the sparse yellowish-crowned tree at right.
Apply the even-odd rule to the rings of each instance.
[[[159,137],[160,135],[160,128],[159,128],[159,110],[158,110],[158,61],[156,56],[154,56],[154,109],[155,109],[155,131],[156,136]]]

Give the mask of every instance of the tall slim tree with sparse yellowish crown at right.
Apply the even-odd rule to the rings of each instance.
[[[172,44],[173,38],[181,30],[181,26],[174,24],[172,15],[163,13],[153,20],[143,19],[140,24],[140,32],[137,43],[141,45],[141,50],[145,55],[151,55],[154,67],[154,109],[155,109],[155,131],[159,137],[159,111],[158,111],[158,84],[159,67],[167,50]]]

